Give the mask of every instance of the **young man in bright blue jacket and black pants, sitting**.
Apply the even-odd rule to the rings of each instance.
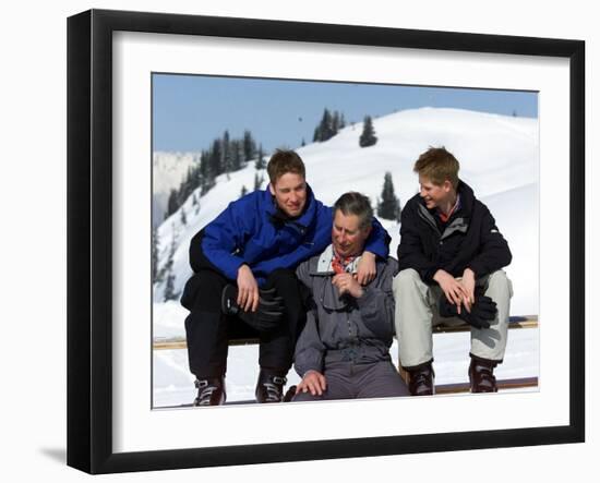
[[[194,275],[181,303],[190,310],[185,331],[195,406],[225,402],[228,330],[240,323],[260,337],[256,400],[283,400],[305,316],[295,269],[329,244],[333,213],[314,197],[295,152],[276,152],[267,172],[267,190],[230,203],[190,245]],[[375,277],[375,257],[387,257],[388,241],[376,222],[358,268],[361,283]]]

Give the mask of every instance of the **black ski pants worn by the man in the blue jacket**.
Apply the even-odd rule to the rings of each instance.
[[[235,285],[235,281],[217,271],[201,269],[185,285],[181,303],[190,310],[190,315],[185,318],[188,358],[190,371],[197,378],[225,375],[228,334],[231,328],[236,328],[231,325],[245,325],[241,318],[221,313],[221,292],[227,283]],[[269,331],[250,331],[260,338],[260,366],[285,375],[291,367],[296,339],[305,319],[305,312],[300,285],[293,270],[274,270],[267,277],[264,288],[273,287],[284,299],[286,307],[281,324]],[[247,327],[242,329],[249,331]]]

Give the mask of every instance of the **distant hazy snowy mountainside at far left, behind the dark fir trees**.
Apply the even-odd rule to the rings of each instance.
[[[188,169],[200,162],[200,153],[155,152],[152,159],[152,224],[158,226],[165,218],[171,190],[177,190]]]

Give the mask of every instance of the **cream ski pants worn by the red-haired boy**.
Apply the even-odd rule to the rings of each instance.
[[[508,316],[513,286],[503,270],[476,280],[497,307],[497,314],[490,321],[490,328],[471,327],[471,354],[502,362],[506,349]],[[428,286],[412,268],[401,270],[394,278],[396,300],[396,337],[400,364],[405,369],[418,366],[433,360],[432,326],[463,323],[458,317],[441,317],[439,302],[445,297],[440,286]]]

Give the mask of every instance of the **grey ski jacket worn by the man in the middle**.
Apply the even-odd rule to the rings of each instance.
[[[300,264],[296,273],[311,294],[310,310],[296,345],[295,369],[302,377],[307,371],[323,372],[328,363],[357,364],[388,361],[394,336],[394,294],[392,281],[398,271],[394,258],[377,258],[375,279],[363,287],[360,299],[339,292],[332,283],[333,247]],[[347,267],[356,273],[360,257]]]

